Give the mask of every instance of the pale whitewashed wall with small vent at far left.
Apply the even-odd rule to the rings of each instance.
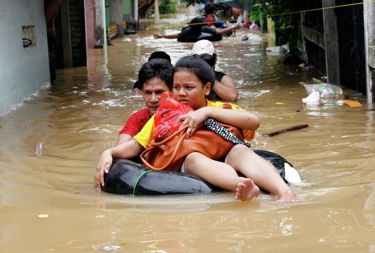
[[[50,85],[43,0],[0,1],[0,115]],[[23,48],[24,25],[35,25],[35,45]]]

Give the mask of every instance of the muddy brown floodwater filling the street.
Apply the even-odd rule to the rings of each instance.
[[[180,15],[178,22],[189,18]],[[92,252],[109,245],[158,253],[375,252],[374,111],[349,89],[344,93],[363,107],[302,104],[307,93],[298,83],[320,74],[297,73],[282,56],[266,54],[267,34],[261,45],[242,42],[241,31],[215,42],[217,67],[235,80],[238,105],[261,119],[252,147],[286,157],[299,171],[303,183],[291,186],[298,203],[278,205],[264,193],[243,203],[233,192],[132,197],[95,190],[100,153],[144,108],[131,92],[142,63],[155,50],[166,51],[172,63],[190,53],[193,43],[154,40],[155,32],[89,50],[88,67],[58,70],[56,85],[0,117],[0,252]],[[261,136],[300,124],[309,127]]]

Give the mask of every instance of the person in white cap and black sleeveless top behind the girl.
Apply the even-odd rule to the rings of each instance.
[[[201,55],[215,72],[215,85],[213,85],[213,92],[210,99],[224,100],[228,102],[235,102],[238,99],[238,91],[234,84],[233,78],[229,75],[215,70],[217,57],[213,44],[208,40],[201,40],[195,42],[191,49],[192,55]],[[206,54],[203,55],[203,54]],[[209,55],[209,56],[208,56]]]

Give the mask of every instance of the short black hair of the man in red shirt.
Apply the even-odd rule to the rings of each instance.
[[[138,73],[138,80],[143,85],[155,77],[167,84],[169,90],[173,87],[173,65],[165,59],[154,59],[143,64]]]

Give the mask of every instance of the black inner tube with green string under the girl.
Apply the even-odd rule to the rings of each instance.
[[[285,182],[285,164],[290,164],[284,157],[270,151],[253,149],[269,161]],[[288,183],[288,182],[287,182]],[[129,160],[115,159],[108,174],[104,174],[103,191],[113,194],[132,194],[137,196],[163,196],[182,194],[208,194],[221,189],[205,180],[174,171],[155,171],[144,165]]]

